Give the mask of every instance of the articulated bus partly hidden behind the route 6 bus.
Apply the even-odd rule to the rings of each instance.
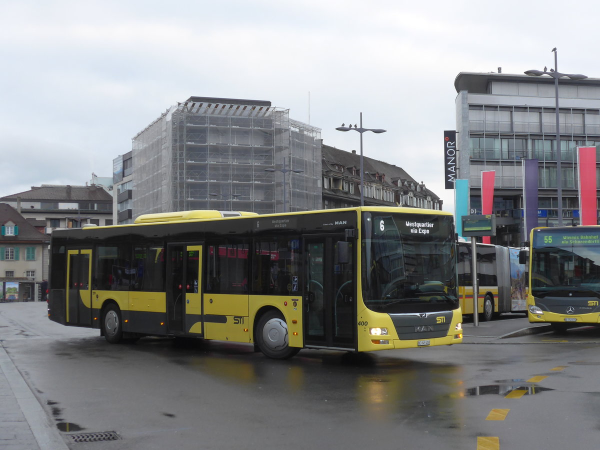
[[[527,313],[527,264],[520,249],[476,244],[478,314],[491,320],[500,313]],[[473,314],[473,261],[470,242],[458,242],[458,298],[463,314]]]

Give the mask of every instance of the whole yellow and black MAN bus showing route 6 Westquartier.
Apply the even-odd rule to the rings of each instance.
[[[109,343],[253,343],[271,358],[460,343],[452,215],[186,211],[54,230],[51,320]]]

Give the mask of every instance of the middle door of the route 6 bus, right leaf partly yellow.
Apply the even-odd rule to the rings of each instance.
[[[201,260],[202,245],[167,245],[169,333],[202,335]]]

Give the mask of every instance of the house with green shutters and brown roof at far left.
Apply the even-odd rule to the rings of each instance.
[[[0,224],[0,301],[44,299],[49,236],[6,203],[0,203]]]

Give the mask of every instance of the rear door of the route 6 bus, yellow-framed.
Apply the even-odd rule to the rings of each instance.
[[[91,250],[67,251],[67,325],[91,325]]]

